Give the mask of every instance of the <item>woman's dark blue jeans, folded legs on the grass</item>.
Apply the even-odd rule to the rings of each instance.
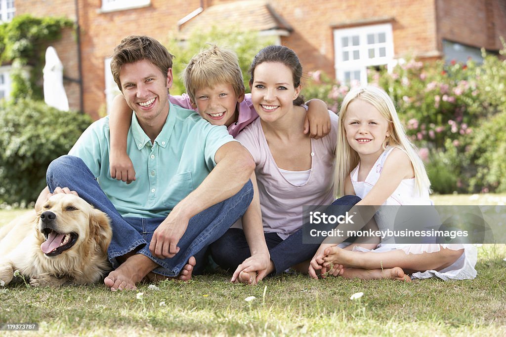
[[[345,214],[361,199],[357,196],[344,196],[335,200],[332,205],[342,206],[334,209],[336,216]],[[298,263],[308,261],[315,255],[320,244],[303,244],[303,228],[294,232],[286,239],[281,239],[276,233],[264,233],[267,248],[274,263],[275,271],[279,274]],[[322,237],[322,240],[324,237]],[[216,242],[210,245],[213,260],[222,268],[234,271],[239,264],[251,256],[244,231],[230,228]]]

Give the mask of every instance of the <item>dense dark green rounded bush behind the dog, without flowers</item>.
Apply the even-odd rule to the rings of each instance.
[[[0,107],[0,204],[28,204],[46,186],[51,161],[67,154],[92,120],[44,102]]]

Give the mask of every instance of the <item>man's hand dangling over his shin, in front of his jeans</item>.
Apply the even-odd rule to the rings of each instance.
[[[174,257],[179,252],[178,243],[189,221],[189,217],[173,209],[153,233],[149,244],[151,254],[160,259]]]

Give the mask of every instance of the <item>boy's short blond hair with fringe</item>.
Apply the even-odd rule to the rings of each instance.
[[[244,94],[244,82],[237,55],[229,50],[212,45],[198,53],[183,72],[183,83],[192,103],[195,92],[201,88],[214,88],[219,84],[232,84],[235,94]]]

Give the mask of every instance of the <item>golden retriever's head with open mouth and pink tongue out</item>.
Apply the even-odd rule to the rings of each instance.
[[[48,257],[99,248],[104,254],[111,242],[109,218],[71,194],[51,196],[37,214],[40,250]]]

